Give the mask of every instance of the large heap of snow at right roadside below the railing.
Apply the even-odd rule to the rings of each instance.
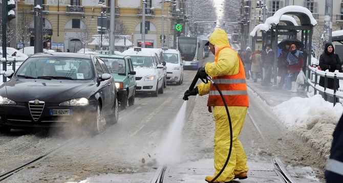
[[[328,158],[332,133],[343,111],[340,103],[332,106],[320,95],[314,95],[311,98],[294,97],[272,109],[286,128]]]

